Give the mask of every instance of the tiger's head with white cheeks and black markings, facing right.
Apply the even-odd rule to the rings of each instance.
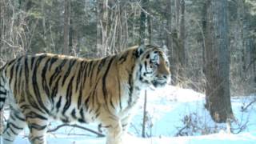
[[[139,46],[138,78],[142,84],[154,87],[166,86],[170,82],[170,64],[165,52],[157,46]]]

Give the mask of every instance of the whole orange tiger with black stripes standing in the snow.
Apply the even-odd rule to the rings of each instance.
[[[0,69],[0,112],[10,106],[3,143],[14,143],[25,126],[30,143],[46,143],[49,122],[58,120],[95,122],[106,130],[106,144],[121,144],[142,91],[169,82],[170,64],[160,46],[132,46],[95,59],[22,55]]]

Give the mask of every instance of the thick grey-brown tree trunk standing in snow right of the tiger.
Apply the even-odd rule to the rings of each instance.
[[[230,55],[227,2],[208,0],[206,25],[206,109],[214,122],[233,118],[230,102]]]

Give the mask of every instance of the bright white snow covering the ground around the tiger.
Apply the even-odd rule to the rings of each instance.
[[[226,132],[226,124],[216,124],[204,108],[205,96],[193,90],[184,90],[174,86],[148,91],[146,135],[140,138],[142,131],[143,95],[137,114],[134,115],[125,142],[140,144],[200,144],[200,143],[256,143],[256,105],[250,105],[256,96],[231,98],[236,122],[231,127],[234,134]],[[53,123],[51,127],[60,123]],[[97,130],[97,126],[86,126]],[[28,130],[18,136],[15,144],[29,143]],[[54,144],[105,144],[105,138],[96,138],[85,130],[62,127],[47,134],[47,142]]]

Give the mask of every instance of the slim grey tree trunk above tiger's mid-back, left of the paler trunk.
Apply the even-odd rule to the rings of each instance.
[[[70,0],[64,1],[64,46],[63,54],[69,54],[69,33],[70,33]]]

